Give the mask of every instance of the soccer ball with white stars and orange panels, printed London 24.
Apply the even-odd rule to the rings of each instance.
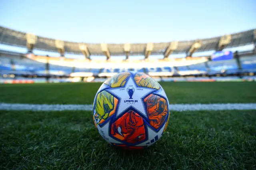
[[[122,72],[96,93],[93,119],[100,135],[124,149],[143,149],[166,130],[169,104],[164,89],[145,73]]]

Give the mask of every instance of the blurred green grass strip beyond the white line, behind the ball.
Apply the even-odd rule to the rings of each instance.
[[[160,84],[170,103],[256,103],[256,82],[165,82]],[[92,104],[100,85],[101,83],[0,85],[0,102]]]

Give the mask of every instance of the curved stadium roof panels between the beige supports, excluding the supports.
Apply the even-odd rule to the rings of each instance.
[[[9,28],[0,26],[0,43],[6,45],[14,45],[18,47],[27,47],[27,38],[25,32],[19,32]],[[226,47],[237,47],[254,42],[254,30],[248,30],[231,34],[231,42]],[[172,53],[186,53],[195,42],[200,42],[201,46],[197,51],[210,51],[215,50],[220,41],[221,36],[214,38],[206,38],[201,40],[180,41],[178,46]],[[65,53],[82,54],[78,42],[64,41]],[[96,43],[85,43],[90,55],[103,55],[102,45]],[[164,55],[166,49],[170,46],[171,42],[153,43],[153,48],[150,55]],[[107,44],[107,49],[111,56],[113,55],[126,55],[124,51],[124,44]],[[129,55],[144,55],[147,48],[147,43],[132,43],[130,44]],[[37,41],[34,49],[57,52],[56,40],[37,36]]]

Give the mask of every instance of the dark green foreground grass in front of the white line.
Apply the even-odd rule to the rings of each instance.
[[[92,113],[0,112],[0,169],[255,169],[255,111],[173,112],[153,146],[123,151]]]

